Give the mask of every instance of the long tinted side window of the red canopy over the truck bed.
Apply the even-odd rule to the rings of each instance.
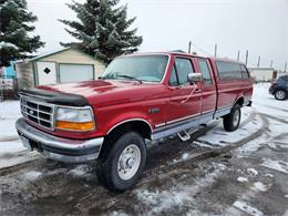
[[[230,62],[216,62],[219,78],[220,80],[241,80],[244,76],[247,78],[247,74],[244,73],[244,69],[238,63],[230,63]]]

